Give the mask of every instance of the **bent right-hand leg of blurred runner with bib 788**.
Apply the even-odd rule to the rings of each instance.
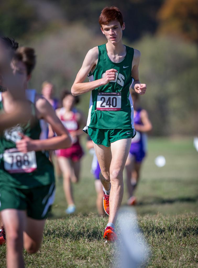
[[[38,251],[42,238],[45,219],[37,220],[27,218],[25,230],[23,232],[24,248],[29,253]]]

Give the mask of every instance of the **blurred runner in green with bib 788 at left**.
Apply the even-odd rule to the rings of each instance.
[[[12,62],[13,73],[25,78],[24,94],[32,102],[32,117],[28,124],[6,129],[0,137],[0,210],[6,229],[7,267],[10,268],[24,267],[23,246],[34,253],[42,241],[45,219],[55,193],[53,166],[45,150],[71,145],[68,132],[52,106],[34,90],[25,91],[34,65],[34,50],[20,48]],[[10,104],[9,92],[2,92],[0,110],[9,113]],[[41,118],[52,126],[57,137],[39,140]]]

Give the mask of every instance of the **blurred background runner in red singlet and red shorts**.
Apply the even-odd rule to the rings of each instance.
[[[57,109],[56,114],[60,118],[65,128],[69,131],[72,139],[72,146],[67,149],[56,151],[58,164],[63,173],[63,188],[68,207],[65,210],[67,214],[74,213],[76,206],[72,193],[72,182],[78,183],[80,175],[80,161],[83,156],[83,150],[80,145],[79,136],[83,134],[80,125],[85,123],[85,119],[74,106],[79,102],[78,97],[74,97],[71,92],[64,90],[61,94],[63,108]]]

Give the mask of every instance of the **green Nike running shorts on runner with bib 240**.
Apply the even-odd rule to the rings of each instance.
[[[110,147],[116,140],[129,139],[135,136],[135,129],[99,129],[88,127],[88,134],[94,143]]]

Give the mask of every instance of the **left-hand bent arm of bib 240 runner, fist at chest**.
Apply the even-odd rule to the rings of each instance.
[[[94,47],[93,49],[90,49],[85,56],[85,59],[83,61],[82,67],[80,68],[76,79],[74,81],[74,84],[71,88],[71,93],[74,96],[84,94],[86,92],[89,92],[97,87],[100,87],[101,85],[106,85],[109,83],[109,81],[114,80],[116,78],[115,73],[117,70],[110,69],[105,72],[105,76],[101,79],[92,81],[92,82],[86,82],[83,83],[89,74],[90,70],[97,64],[98,60],[98,47]]]

